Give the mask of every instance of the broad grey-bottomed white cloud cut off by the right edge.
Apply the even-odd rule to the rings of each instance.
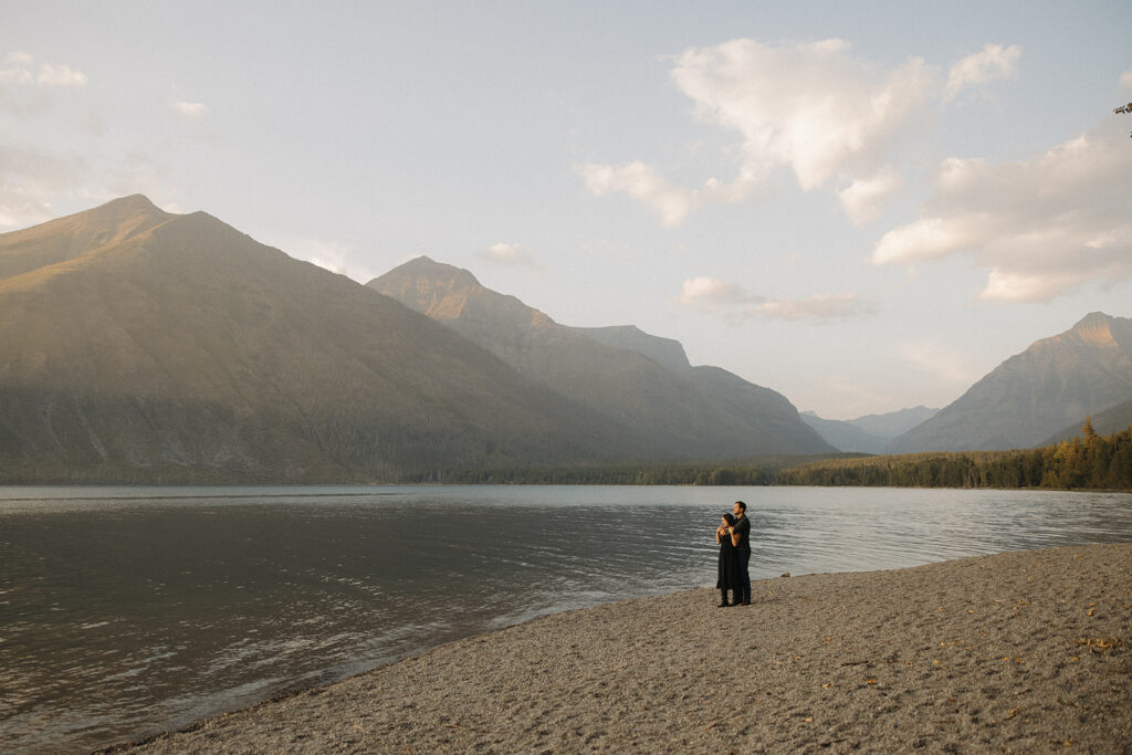
[[[985,299],[1049,301],[1132,277],[1132,149],[1101,127],[1028,160],[947,160],[921,217],[876,243],[873,261],[953,255],[987,271]]]

